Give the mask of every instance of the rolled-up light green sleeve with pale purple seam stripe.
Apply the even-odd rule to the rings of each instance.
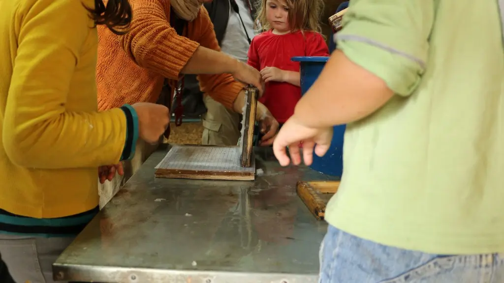
[[[408,96],[425,70],[433,21],[433,0],[352,0],[334,39],[350,60]]]

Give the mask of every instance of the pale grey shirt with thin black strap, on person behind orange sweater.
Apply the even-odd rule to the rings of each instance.
[[[221,51],[242,62],[246,62],[248,47],[250,46],[247,40],[247,35],[250,40],[252,40],[255,36],[254,20],[252,19],[252,16],[250,16],[249,8],[247,3],[245,3],[246,0],[227,1],[236,2],[239,15],[232,9],[232,5],[230,5],[226,32],[224,33],[224,37],[220,44]]]

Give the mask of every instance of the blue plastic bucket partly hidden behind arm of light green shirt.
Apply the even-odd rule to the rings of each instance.
[[[301,67],[301,93],[304,95],[317,80],[329,57],[292,57]],[[343,173],[343,135],[345,125],[335,126],[331,147],[326,155],[318,157],[313,153],[310,168],[324,174],[341,177]]]

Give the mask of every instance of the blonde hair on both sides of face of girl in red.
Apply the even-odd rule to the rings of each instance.
[[[261,24],[263,30],[271,28],[266,20],[266,2],[268,0],[259,0],[257,21]],[[324,12],[323,0],[278,0],[284,2],[289,7],[289,25],[290,30],[313,31],[322,34],[320,17]]]

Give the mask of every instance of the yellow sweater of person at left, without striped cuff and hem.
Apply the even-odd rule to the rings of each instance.
[[[119,161],[120,109],[97,112],[93,0],[0,1],[0,208],[65,217],[98,204],[97,167]]]

